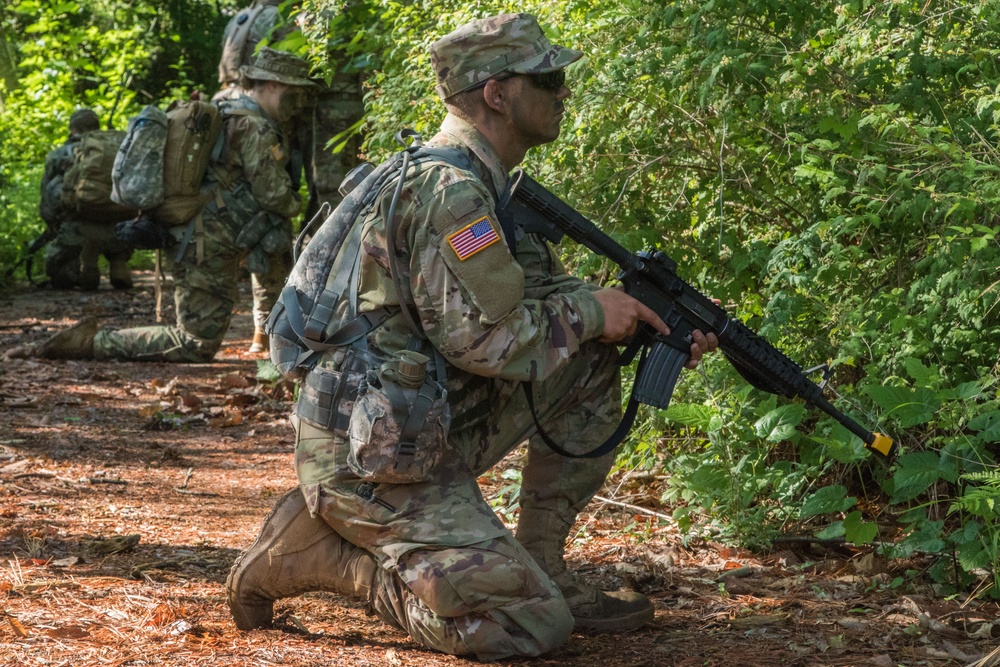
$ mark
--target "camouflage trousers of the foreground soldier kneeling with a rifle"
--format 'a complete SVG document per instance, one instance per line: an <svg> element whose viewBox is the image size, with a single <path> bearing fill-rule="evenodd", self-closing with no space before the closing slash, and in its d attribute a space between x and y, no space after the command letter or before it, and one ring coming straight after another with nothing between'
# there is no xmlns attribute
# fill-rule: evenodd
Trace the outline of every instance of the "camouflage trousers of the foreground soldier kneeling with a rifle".
<svg viewBox="0 0 1000 667"><path fill-rule="evenodd" d="M539 422L564 448L591 451L617 425L615 357L612 347L588 343L562 372L532 385ZM332 452L338 470L335 480L321 484L300 479L310 510L393 575L376 582L375 610L431 648L485 660L559 646L573 617L559 588L483 499L477 477L529 440L521 503L571 525L614 459L559 456L539 439L520 385L492 386L492 409L450 434L454 455L434 479L379 484L374 495L344 472L342 437L293 419L300 472L317 452Z"/></svg>

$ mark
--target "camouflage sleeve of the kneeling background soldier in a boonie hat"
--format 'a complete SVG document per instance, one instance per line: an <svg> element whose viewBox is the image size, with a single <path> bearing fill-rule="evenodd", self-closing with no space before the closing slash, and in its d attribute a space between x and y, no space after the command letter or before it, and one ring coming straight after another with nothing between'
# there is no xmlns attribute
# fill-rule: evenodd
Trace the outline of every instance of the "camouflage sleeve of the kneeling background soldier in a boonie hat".
<svg viewBox="0 0 1000 667"><path fill-rule="evenodd" d="M238 150L253 198L265 211L285 218L298 215L302 198L285 169L288 150L281 137L262 118L243 116L234 122L245 124L240 128L243 131Z"/></svg>

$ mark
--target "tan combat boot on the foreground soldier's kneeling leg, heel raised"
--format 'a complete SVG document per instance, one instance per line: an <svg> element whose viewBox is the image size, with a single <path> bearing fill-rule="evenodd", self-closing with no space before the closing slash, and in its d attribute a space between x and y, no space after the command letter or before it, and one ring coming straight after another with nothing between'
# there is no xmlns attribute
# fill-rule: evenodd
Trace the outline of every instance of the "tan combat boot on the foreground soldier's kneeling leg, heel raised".
<svg viewBox="0 0 1000 667"><path fill-rule="evenodd" d="M274 601L309 591L371 597L375 559L306 509L298 488L283 495L254 543L233 563L226 599L236 627L271 626Z"/></svg>

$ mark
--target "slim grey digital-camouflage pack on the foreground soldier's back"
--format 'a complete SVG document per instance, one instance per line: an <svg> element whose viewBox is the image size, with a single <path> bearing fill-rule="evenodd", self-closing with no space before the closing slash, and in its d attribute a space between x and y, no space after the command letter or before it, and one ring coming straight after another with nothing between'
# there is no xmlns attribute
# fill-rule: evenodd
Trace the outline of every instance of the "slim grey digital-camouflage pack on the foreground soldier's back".
<svg viewBox="0 0 1000 667"><path fill-rule="evenodd" d="M270 336L271 361L286 378L303 379L320 353L351 345L392 314L385 309L361 315L355 312L349 291L357 270L361 234L350 232L363 224L382 199L380 195L398 182L404 166L437 161L471 168L469 159L457 149L421 146L415 133L403 136L415 136L417 141L377 168L370 164L355 167L344 179L350 183L352 176L368 172L353 189L342 188L343 200L296 258L271 309L264 329ZM402 142L398 135L397 139ZM308 231L304 229L302 236ZM345 248L348 239L359 247Z"/></svg>

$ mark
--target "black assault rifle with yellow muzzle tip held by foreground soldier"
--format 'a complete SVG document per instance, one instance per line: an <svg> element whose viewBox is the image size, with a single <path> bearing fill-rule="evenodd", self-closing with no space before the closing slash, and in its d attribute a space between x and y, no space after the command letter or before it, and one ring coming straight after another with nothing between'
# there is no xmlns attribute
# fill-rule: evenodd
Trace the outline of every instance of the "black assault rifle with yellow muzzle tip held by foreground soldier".
<svg viewBox="0 0 1000 667"><path fill-rule="evenodd" d="M647 349L636 370L634 400L660 409L669 405L677 377L691 357L692 332L700 329L718 337L726 359L752 386L769 394L801 398L861 438L870 451L886 460L895 455L890 437L872 433L835 408L823 396L823 387L812 382L801 366L678 276L677 262L664 253L626 250L523 171L514 175L504 199L500 206L504 217L524 232L540 233L553 243L569 236L617 264L625 292L653 309L670 327L668 336L643 327L639 343Z"/></svg>

